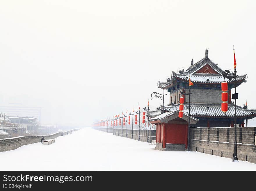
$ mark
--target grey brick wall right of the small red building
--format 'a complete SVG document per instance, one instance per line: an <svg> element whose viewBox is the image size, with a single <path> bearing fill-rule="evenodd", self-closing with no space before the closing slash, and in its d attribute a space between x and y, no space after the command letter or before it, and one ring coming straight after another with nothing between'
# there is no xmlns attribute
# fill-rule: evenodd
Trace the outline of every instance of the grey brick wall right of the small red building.
<svg viewBox="0 0 256 191"><path fill-rule="evenodd" d="M237 157L256 163L256 127L237 127ZM233 158L234 127L191 128L191 151Z"/></svg>

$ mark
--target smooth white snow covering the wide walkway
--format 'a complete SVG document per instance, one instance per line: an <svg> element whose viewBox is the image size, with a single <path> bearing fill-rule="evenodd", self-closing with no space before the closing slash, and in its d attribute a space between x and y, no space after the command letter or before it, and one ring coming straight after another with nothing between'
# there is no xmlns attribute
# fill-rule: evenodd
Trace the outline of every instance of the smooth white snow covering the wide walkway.
<svg viewBox="0 0 256 191"><path fill-rule="evenodd" d="M154 145L83 128L51 145L0 153L1 170L256 170L256 164L199 152L158 151Z"/></svg>

